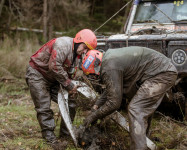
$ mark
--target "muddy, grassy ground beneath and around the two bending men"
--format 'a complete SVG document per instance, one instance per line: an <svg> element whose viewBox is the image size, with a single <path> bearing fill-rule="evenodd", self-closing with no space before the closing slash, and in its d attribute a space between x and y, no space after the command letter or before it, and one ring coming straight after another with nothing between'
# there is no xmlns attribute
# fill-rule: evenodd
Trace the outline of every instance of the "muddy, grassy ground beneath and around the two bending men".
<svg viewBox="0 0 187 150"><path fill-rule="evenodd" d="M55 133L58 136L60 123L58 105L52 103L52 109L57 124ZM121 111L121 113L126 116L125 111ZM81 109L77 110L75 126L79 127L84 114L85 112ZM95 126L92 133L95 133L97 138L90 134L90 139L95 139L95 148L102 150L129 149L129 134L123 128L111 120L98 121ZM186 122L156 113L152 121L149 138L158 146L159 150L185 150L187 149ZM65 137L63 140L68 141L66 150L76 149L70 137ZM88 148L89 146L85 144L83 148L78 149ZM0 149L52 149L41 138L34 105L24 80L0 81Z"/></svg>

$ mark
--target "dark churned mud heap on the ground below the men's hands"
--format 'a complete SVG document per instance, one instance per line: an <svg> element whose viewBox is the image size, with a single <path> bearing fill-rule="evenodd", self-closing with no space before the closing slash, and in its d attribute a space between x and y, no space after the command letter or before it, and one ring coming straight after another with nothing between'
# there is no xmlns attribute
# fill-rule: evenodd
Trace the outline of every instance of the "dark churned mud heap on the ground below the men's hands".
<svg viewBox="0 0 187 150"><path fill-rule="evenodd" d="M106 120L85 130L79 138L79 145L84 150L127 150L129 140L127 132Z"/></svg>

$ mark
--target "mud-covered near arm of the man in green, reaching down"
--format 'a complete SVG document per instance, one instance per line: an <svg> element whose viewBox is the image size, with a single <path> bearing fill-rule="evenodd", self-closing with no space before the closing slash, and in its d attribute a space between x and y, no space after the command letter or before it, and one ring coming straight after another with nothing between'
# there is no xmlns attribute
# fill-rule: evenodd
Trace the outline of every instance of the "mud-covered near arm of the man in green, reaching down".
<svg viewBox="0 0 187 150"><path fill-rule="evenodd" d="M106 85L106 102L85 119L84 125L86 127L97 119L104 118L113 113L121 105L123 94L123 72L120 70L106 70L102 75L102 80Z"/></svg>

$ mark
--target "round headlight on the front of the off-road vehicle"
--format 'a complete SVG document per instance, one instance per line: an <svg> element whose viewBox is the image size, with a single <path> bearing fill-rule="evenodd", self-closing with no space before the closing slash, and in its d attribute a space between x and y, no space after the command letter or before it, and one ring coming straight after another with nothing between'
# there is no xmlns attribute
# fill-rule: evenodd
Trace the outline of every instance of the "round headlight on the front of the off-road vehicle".
<svg viewBox="0 0 187 150"><path fill-rule="evenodd" d="M186 53L182 49L177 49L172 54L172 61L176 65L183 65L186 61Z"/></svg>

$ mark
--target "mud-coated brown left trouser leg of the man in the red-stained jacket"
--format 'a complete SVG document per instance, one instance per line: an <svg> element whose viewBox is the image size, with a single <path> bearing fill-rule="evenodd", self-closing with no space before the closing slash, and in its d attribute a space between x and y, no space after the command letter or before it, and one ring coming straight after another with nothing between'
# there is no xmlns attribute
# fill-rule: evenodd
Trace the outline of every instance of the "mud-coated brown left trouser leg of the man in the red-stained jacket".
<svg viewBox="0 0 187 150"><path fill-rule="evenodd" d="M52 144L53 147L54 145L57 145L58 141L54 134L54 113L50 106L51 100L57 103L57 93L59 90L58 83L55 85L51 84L49 81L43 78L41 73L39 73L36 69L33 69L30 66L27 69L26 82L29 86L30 94L35 105L37 119L41 127L42 137L48 143ZM73 112L73 115L71 116L75 116L76 105L74 104L73 108L71 108L71 103L69 104L70 112Z"/></svg>

